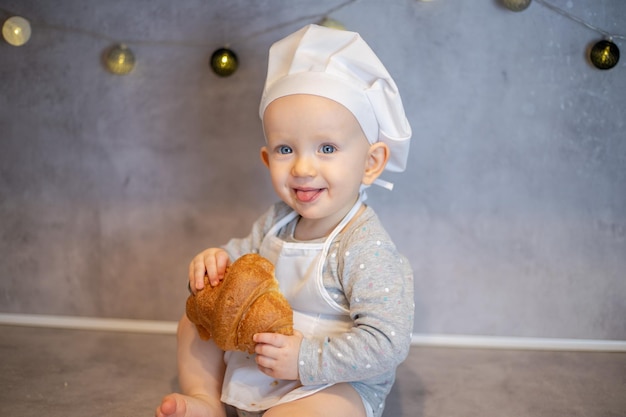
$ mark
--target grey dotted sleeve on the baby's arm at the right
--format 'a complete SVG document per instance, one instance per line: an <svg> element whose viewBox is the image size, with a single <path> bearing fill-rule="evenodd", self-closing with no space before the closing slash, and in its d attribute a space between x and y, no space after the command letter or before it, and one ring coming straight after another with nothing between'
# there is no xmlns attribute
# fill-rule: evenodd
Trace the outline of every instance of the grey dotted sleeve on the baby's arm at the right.
<svg viewBox="0 0 626 417"><path fill-rule="evenodd" d="M303 340L304 385L362 381L392 372L408 354L414 314L408 261L377 222L359 225L343 239L334 256L354 327L332 338Z"/></svg>

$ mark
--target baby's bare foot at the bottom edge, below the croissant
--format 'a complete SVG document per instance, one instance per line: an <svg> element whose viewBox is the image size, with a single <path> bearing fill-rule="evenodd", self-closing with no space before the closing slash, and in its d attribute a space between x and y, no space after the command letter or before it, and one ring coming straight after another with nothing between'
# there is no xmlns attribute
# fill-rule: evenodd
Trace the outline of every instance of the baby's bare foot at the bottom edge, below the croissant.
<svg viewBox="0 0 626 417"><path fill-rule="evenodd" d="M226 417L226 410L221 402L215 403L207 397L170 394L163 398L154 415L156 417Z"/></svg>

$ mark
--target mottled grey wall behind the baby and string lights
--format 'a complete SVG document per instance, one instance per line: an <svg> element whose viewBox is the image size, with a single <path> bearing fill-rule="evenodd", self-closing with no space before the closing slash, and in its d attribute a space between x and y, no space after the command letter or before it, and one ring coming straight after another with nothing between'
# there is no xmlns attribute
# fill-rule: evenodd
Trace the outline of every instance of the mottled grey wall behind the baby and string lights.
<svg viewBox="0 0 626 417"><path fill-rule="evenodd" d="M623 0L551 1L626 32ZM0 44L0 312L176 320L190 258L275 200L266 52L316 19L250 35L339 3L0 0L34 31ZM369 199L415 269L415 330L626 339L626 59L594 69L600 36L538 3L332 17L387 64L415 132L395 190ZM107 73L109 40L58 26L129 42L135 71ZM241 66L222 79L207 60L227 42Z"/></svg>

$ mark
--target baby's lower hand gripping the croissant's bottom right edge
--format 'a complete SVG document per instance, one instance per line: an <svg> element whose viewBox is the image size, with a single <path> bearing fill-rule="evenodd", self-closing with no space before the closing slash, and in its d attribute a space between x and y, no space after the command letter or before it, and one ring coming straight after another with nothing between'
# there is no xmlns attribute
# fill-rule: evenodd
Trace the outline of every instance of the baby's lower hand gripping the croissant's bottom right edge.
<svg viewBox="0 0 626 417"><path fill-rule="evenodd" d="M278 333L255 334L254 341L257 345L254 351L259 370L272 378L297 380L302 339L302 333L297 330L294 330L293 336Z"/></svg>

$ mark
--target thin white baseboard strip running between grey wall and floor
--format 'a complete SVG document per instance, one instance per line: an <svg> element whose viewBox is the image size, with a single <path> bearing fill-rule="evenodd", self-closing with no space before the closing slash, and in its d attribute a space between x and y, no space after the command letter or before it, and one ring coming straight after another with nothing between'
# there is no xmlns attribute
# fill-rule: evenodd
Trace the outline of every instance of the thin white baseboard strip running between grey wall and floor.
<svg viewBox="0 0 626 417"><path fill-rule="evenodd" d="M0 325L175 334L173 321L0 313ZM626 352L626 340L414 334L415 347Z"/></svg>

